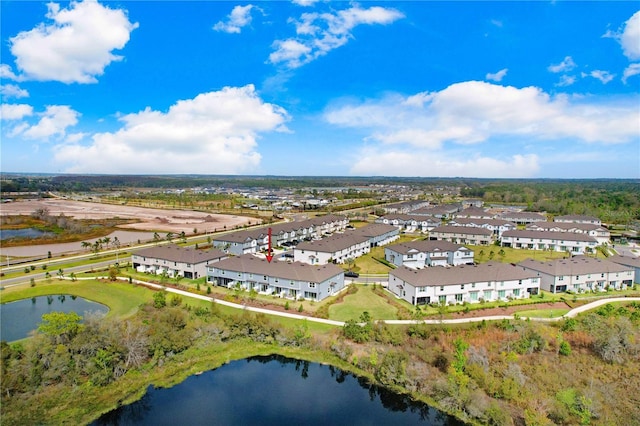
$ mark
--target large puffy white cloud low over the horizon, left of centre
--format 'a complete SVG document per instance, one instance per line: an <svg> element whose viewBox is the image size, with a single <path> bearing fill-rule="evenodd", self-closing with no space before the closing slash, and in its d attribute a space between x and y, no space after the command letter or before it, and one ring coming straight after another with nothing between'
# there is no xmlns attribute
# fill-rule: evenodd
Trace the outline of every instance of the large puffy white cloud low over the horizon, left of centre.
<svg viewBox="0 0 640 426"><path fill-rule="evenodd" d="M287 119L252 85L226 87L178 101L167 112L125 115L121 129L96 134L89 145L59 145L55 159L79 173L251 173L261 160L258 135L286 131Z"/></svg>

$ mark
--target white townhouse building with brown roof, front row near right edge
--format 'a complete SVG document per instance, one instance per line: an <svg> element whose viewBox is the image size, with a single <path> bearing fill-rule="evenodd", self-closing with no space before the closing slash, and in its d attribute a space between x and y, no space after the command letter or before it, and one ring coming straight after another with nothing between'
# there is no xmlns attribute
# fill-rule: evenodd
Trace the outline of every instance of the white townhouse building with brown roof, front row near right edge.
<svg viewBox="0 0 640 426"><path fill-rule="evenodd" d="M518 266L535 272L541 278L540 287L551 293L620 290L635 280L631 266L585 256L545 262L527 259Z"/></svg>

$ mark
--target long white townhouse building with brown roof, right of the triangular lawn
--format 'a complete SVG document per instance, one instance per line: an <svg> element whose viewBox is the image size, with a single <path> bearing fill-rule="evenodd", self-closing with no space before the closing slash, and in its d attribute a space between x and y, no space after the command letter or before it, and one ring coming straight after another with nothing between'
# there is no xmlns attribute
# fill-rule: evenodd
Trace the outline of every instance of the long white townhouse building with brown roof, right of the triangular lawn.
<svg viewBox="0 0 640 426"><path fill-rule="evenodd" d="M388 289L412 305L478 303L538 294L540 278L533 272L500 262L450 268L400 266L389 272Z"/></svg>

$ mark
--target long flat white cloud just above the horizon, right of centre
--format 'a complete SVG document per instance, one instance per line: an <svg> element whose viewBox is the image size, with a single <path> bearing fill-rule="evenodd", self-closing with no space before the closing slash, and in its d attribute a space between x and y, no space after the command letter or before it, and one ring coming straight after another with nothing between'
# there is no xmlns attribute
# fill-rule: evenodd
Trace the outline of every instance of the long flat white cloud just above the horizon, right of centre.
<svg viewBox="0 0 640 426"><path fill-rule="evenodd" d="M416 150L364 149L350 173L357 176L431 176L526 178L540 170L533 154L513 155L504 159L486 156L445 155Z"/></svg>

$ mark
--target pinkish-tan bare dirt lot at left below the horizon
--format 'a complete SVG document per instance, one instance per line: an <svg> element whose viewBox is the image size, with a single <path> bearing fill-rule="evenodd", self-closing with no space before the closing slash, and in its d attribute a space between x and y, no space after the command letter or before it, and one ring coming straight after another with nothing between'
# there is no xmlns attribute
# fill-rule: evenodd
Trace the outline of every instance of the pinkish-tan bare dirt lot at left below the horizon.
<svg viewBox="0 0 640 426"><path fill-rule="evenodd" d="M123 225L123 229L140 231L163 231L187 235L216 232L242 226L249 221L255 224L255 218L203 213L190 210L162 210L144 207L131 207L112 204L87 203L62 199L14 201L0 205L1 215L29 215L39 208L49 209L53 216L64 214L76 219L108 219L120 217L136 219L137 223Z"/></svg>

